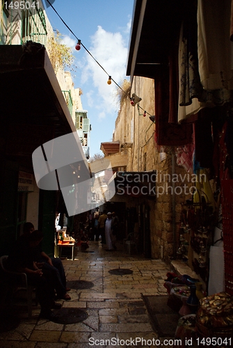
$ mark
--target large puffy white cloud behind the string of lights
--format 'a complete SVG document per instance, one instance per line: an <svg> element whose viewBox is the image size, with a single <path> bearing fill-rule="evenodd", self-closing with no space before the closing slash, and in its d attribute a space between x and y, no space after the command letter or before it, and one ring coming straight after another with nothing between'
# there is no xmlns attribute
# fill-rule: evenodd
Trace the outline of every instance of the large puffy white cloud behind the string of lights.
<svg viewBox="0 0 233 348"><path fill-rule="evenodd" d="M97 109L104 109L105 113L116 111L115 90L117 86L107 84L109 75L117 83L121 84L126 74L127 47L121 33L110 33L105 31L102 26L98 26L97 31L91 37L90 54L86 54L86 66L82 70L81 80L83 83L88 79L93 80L93 85L97 88L98 103ZM103 70L99 65L102 66ZM103 119L104 112L99 113L99 119Z"/></svg>

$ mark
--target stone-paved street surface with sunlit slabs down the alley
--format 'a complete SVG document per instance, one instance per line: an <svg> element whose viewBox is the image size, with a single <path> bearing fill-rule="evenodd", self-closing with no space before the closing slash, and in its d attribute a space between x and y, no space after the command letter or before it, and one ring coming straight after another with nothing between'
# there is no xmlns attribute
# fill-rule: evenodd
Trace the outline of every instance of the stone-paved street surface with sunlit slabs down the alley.
<svg viewBox="0 0 233 348"><path fill-rule="evenodd" d="M138 347L159 347L147 344L152 338L159 338L152 330L142 294L166 294L163 283L170 265L129 255L122 251L122 244L117 245L118 251L109 252L100 242L90 242L87 253L78 251L74 261L63 260L67 280L94 283L90 289L71 290L72 300L61 301L65 308L86 310L87 319L77 324L56 324L38 319L40 307L34 307L32 319L27 319L25 313L15 331L0 333L0 347L133 347L124 342L135 338L145 340L143 345L138 342ZM119 267L131 269L133 274L109 273ZM120 345L116 345L113 338L122 340L118 341ZM111 340L111 344L100 340Z"/></svg>

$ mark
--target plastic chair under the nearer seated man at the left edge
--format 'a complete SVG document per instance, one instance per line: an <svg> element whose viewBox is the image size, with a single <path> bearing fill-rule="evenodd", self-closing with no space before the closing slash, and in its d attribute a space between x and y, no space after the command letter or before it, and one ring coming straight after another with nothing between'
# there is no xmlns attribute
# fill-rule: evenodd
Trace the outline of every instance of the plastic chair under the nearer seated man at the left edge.
<svg viewBox="0 0 233 348"><path fill-rule="evenodd" d="M17 290L26 290L26 300L28 307L28 315L29 318L32 316L32 304L33 304L33 290L35 287L33 285L28 284L28 279L26 273L8 271L5 267L5 262L8 258L8 255L3 255L0 258L1 269L4 274L6 274L7 278L12 279L14 281L14 285L17 287ZM36 301L37 304L37 301Z"/></svg>

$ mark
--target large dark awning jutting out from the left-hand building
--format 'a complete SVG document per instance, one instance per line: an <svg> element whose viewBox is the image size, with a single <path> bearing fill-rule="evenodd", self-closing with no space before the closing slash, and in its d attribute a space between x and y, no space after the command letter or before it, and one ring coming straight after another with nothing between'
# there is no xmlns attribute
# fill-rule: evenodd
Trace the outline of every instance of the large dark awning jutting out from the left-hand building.
<svg viewBox="0 0 233 348"><path fill-rule="evenodd" d="M0 155L31 161L35 148L75 132L46 49L0 46Z"/></svg>

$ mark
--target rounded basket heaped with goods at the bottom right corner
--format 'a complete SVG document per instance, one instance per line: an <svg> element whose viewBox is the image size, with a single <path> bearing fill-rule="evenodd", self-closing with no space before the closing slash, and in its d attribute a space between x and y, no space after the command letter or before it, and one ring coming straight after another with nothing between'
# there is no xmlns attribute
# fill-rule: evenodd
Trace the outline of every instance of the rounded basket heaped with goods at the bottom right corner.
<svg viewBox="0 0 233 348"><path fill-rule="evenodd" d="M196 328L202 337L232 337L233 297L226 292L220 292L201 299L196 315Z"/></svg>

